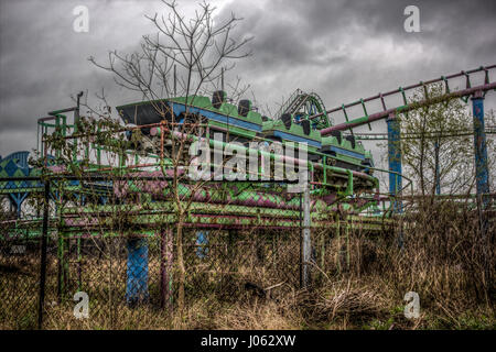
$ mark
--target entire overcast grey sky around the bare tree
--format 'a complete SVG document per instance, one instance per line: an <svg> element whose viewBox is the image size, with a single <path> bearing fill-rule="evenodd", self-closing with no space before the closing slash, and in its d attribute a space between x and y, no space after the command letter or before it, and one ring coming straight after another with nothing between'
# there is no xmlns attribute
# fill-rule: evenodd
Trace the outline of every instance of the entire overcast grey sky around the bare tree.
<svg viewBox="0 0 496 352"><path fill-rule="evenodd" d="M186 13L197 1L179 1ZM496 64L496 1L211 1L219 18L242 16L254 55L236 72L257 100L274 106L294 89L333 108L420 80ZM89 10L89 32L73 30L73 9ZM403 10L420 9L420 33L407 33ZM32 150L36 119L71 107L79 90L106 89L114 106L132 101L111 76L88 63L109 50L131 51L155 31L144 14L155 0L0 1L0 155ZM233 77L227 77L229 79ZM494 107L489 92L486 106ZM276 109L274 109L276 110ZM342 122L337 119L336 122ZM385 130L385 122L374 125ZM373 145L367 145L374 148Z"/></svg>

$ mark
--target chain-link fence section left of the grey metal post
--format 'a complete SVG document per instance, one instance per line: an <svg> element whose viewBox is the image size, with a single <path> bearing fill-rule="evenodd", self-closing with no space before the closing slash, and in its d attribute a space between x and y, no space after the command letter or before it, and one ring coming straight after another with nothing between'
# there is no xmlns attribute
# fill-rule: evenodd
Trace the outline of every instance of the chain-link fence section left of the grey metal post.
<svg viewBox="0 0 496 352"><path fill-rule="evenodd" d="M32 178L19 189L22 209L4 191L1 329L168 327L181 299L277 299L299 288L300 194L274 183L165 188L136 176Z"/></svg>

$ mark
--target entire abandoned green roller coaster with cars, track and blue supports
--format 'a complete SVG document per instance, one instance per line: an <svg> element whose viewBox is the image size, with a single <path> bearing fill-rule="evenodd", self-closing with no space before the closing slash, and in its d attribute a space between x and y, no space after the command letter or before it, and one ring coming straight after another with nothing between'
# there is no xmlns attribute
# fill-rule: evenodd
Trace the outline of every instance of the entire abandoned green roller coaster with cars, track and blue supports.
<svg viewBox="0 0 496 352"><path fill-rule="evenodd" d="M191 200L191 210L184 226L197 233L202 234L211 229L284 230L298 228L303 221L303 255L310 257L311 229L338 227L336 215L341 215L341 219L343 215L346 216L347 221L342 226L359 226L364 231L370 232L382 229L384 221L391 216L400 216L402 200L397 196L401 196L411 182L407 185L402 183L406 177L401 174L401 150L398 145L401 133L397 117L408 114L413 109L453 98L465 101L472 98L477 194L489 193L483 101L487 91L496 89L494 74L489 75L495 68L496 65L492 65L442 76L330 110L316 94L296 90L272 117L262 116L250 100L242 99L238 105L233 103L224 90L215 91L212 97L172 97L119 106L117 111L126 127L116 133L116 139L123 135L123 140L127 140L127 147L119 152L127 157L120 157L119 165L106 164L103 154L110 150L109 144L112 141L86 144L86 154L96 156L85 168L85 175L77 177L69 173L69 165L57 163L60 151L48 150L45 139L54 132L61 133L74 147L71 163L79 162L79 103L74 108L52 111L47 117L37 120L36 147L41 157L46 161L47 168L42 170L32 167L28 162L29 152L0 157L0 193L8 199L12 209L12 217L0 223L6 230L0 234L1 240L19 235L37 238L51 233L62 234L61 238L116 235L111 228L101 232L105 224L101 218L105 218L110 207L109 199L120 198L120 205L128 207L126 211L136 215L131 220L132 227L121 230L123 233L118 233L129 235L127 298L134 299L148 289L148 271L142 267L147 266L145 238L157 235L155 229L152 228L155 219L152 215L161 213L163 223L170 228L176 222L172 185L174 175L177 174L174 173L174 163L171 161L174 139L185 139L187 145L202 140L212 147L216 144L224 146L229 142L238 142L245 146L247 155L254 153L257 157L271 160L272 164L278 157L285 156L277 156L273 151L252 150L250 142L279 142L283 146L289 143L304 143L306 160L299 160L298 155L294 157L299 166L308 169L309 180L302 193L279 191L281 187L287 186L285 179L251 180L248 174L246 179L241 180L214 179L197 189L196 182L181 177L176 187L181 188L183 200ZM473 75L483 75L484 81L474 84ZM450 80L460 78L465 81L464 88L450 86ZM425 96L422 101L407 99L407 94L414 89L423 87L427 92L427 87L431 84L443 85L444 95L432 98ZM387 100L391 97L402 103L388 107ZM369 113L370 103L380 106L380 109ZM67 113L74 114L72 123ZM344 117L345 121L334 124L333 119L337 114ZM370 123L378 120L386 120L388 127L387 170L375 167L371 153L364 148L360 135L354 133L355 128L365 124L370 127ZM181 125L192 121L201 121L202 129L195 130L196 133L191 135L182 134ZM133 138L136 133L140 134L139 141ZM214 140L214 134L220 134L222 140ZM260 165L256 173L261 173ZM377 173L389 174L389 191L380 191ZM110 174L118 176L108 177ZM50 182L44 182L47 178L52 178L52 184L55 182L60 183L58 186L64 186L51 189ZM52 199L71 198L74 200L74 207L60 209L57 221L51 220L44 227L33 230L26 223L41 222L42 217L28 216L22 206L31 193L43 190ZM147 199L150 206L141 207L139 199ZM229 207L224 207L225 205ZM116 204L111 207L116 207ZM141 229L138 234L134 226ZM204 235L202 239L206 241Z"/></svg>

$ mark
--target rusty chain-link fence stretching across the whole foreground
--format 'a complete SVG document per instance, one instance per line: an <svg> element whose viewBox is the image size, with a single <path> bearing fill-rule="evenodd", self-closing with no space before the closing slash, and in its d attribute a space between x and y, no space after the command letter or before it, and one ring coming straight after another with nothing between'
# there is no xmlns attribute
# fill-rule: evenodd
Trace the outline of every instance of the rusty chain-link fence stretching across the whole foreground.
<svg viewBox="0 0 496 352"><path fill-rule="evenodd" d="M216 310L284 305L295 296L311 304L343 277L380 273L398 285L409 283L405 277L424 285L408 274L412 260L425 273L446 262L457 271L450 279L485 297L494 256L492 237L481 237L477 226L494 232L492 210L461 212L461 202L439 202L385 220L346 213L343 202L325 208L313 193L303 256L305 197L285 186L173 187L171 179L132 174L0 178L0 329L211 329L211 317L223 327ZM454 222L450 215L459 212L465 218ZM460 237L446 241L431 217ZM418 253L424 260L414 262ZM470 253L478 254L466 262Z"/></svg>

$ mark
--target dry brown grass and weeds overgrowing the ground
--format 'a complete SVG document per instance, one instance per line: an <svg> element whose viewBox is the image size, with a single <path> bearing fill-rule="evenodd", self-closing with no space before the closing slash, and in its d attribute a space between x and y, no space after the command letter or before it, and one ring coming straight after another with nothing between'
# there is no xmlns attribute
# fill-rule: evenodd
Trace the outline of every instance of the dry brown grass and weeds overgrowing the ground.
<svg viewBox="0 0 496 352"><path fill-rule="evenodd" d="M277 256L272 253L265 262L249 254L242 265L225 258L223 263L229 265L207 265L205 272L196 265L183 314L160 308L157 299L137 308L126 306L125 262L115 261L119 268L112 305L108 305L106 296L98 296L91 300L90 319L77 320L73 301L48 304L45 328L496 329L495 297L490 296L494 282L487 278L487 274L494 277L496 267L494 222L488 224L488 238L483 239L474 211L453 204L434 204L424 206L423 211L407 211L403 223L402 249L397 244L398 229L375 239L359 231L351 233L349 265L338 254L345 243L343 237L338 241L330 231L314 232L315 240L321 234L326 239L324 257L320 257L320 251L315 257L315 263L323 262L324 266L313 268L314 284L305 290L295 288L298 242L281 243ZM267 248L266 253L270 253ZM87 263L93 264L97 278L93 283L108 286L105 262L100 270L97 262ZM158 273L158 262L150 263L150 277ZM17 276L15 284L20 285L21 279ZM277 287L270 295L260 296L247 290L245 282L261 288ZM421 306L420 318L412 320L403 316L403 296L410 290L419 294ZM3 304L0 308L0 329L34 328L35 310L19 317L14 305Z"/></svg>

